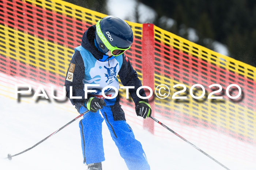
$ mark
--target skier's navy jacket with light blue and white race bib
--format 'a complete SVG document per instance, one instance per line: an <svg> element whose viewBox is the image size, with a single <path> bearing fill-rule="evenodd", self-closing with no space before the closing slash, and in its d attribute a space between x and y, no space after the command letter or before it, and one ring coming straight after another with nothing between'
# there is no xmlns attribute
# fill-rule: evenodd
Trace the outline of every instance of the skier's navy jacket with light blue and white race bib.
<svg viewBox="0 0 256 170"><path fill-rule="evenodd" d="M135 86L134 89L129 89L129 93L135 103L142 100L137 94L136 90L142 86L137 72L133 70L128 58L122 54L110 58L109 62L105 62L107 56L97 49L94 45L95 25L89 27L84 32L82 37L81 46L75 48L75 52L72 55L71 62L66 75L65 87L67 91L67 97L70 96L70 86L72 86L72 96L82 96L82 99L70 99L71 103L80 109L81 106L85 106L87 102L84 95L84 84L100 84L102 86L114 86L119 88L117 75L119 76L123 86ZM118 74L116 74L118 73ZM96 92L90 92L87 94L87 99L90 97L101 98L101 90L99 88L91 87L89 90L96 90ZM105 94L109 93L109 96L113 96L111 89L108 89ZM140 90L141 96L146 96L144 90ZM119 106L119 94L114 99L104 99L109 106ZM114 106L112 106L114 107Z"/></svg>

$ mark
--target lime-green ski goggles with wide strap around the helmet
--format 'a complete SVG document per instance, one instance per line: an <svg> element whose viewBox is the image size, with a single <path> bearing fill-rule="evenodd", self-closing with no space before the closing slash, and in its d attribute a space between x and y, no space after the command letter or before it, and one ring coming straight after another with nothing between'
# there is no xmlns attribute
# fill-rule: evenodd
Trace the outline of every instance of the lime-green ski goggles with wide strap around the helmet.
<svg viewBox="0 0 256 170"><path fill-rule="evenodd" d="M113 56L118 56L120 54L123 54L126 50L128 50L131 46L129 46L128 48L118 48L118 47L114 47L111 46L111 44L109 43L109 41L106 39L106 37L104 36L104 34L101 31L101 28L99 26L99 23L102 19L100 19L97 24L96 24L96 31L97 34L99 36L99 38L101 39L101 41L104 43L104 45L111 51L111 54Z"/></svg>

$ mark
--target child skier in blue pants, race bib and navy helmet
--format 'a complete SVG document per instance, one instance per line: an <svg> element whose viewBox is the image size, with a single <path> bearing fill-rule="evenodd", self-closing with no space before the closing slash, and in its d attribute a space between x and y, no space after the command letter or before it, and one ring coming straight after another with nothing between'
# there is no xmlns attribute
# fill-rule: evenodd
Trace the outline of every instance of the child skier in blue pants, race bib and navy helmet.
<svg viewBox="0 0 256 170"><path fill-rule="evenodd" d="M135 102L136 114L143 118L151 115L148 100L136 95L136 90L142 84L124 54L131 47L132 41L132 29L127 22L115 16L106 16L84 32L81 46L76 47L72 55L65 86L67 97L78 112L90 110L79 122L84 163L89 170L102 170L101 162L105 160L102 141L104 119L128 169L150 169L142 145L135 139L131 127L125 121L119 94L113 99L102 96L103 87L113 86L119 89L119 75L124 86L134 86L129 92ZM84 88L94 92L85 94ZM105 95L114 96L115 91L108 88ZM143 89L140 90L140 95L146 96Z"/></svg>

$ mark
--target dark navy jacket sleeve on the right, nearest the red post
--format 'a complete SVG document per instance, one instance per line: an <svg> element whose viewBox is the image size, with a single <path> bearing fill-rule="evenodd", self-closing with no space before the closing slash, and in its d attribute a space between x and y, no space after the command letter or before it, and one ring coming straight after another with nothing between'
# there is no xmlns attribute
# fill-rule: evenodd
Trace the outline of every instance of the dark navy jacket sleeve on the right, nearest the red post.
<svg viewBox="0 0 256 170"><path fill-rule="evenodd" d="M133 102L136 104L137 102L144 100L146 102L148 102L147 99L140 99L137 94L136 91L137 89L142 86L140 79L138 78L138 74L137 72L132 68L132 65L130 63L130 61L125 59L126 56L123 54L123 64L121 66L121 69L118 73L121 83L123 84L123 86L134 86L135 88L133 89L129 89L129 93L133 99ZM145 91L143 89L141 89L139 91L139 94L143 97L146 96Z"/></svg>

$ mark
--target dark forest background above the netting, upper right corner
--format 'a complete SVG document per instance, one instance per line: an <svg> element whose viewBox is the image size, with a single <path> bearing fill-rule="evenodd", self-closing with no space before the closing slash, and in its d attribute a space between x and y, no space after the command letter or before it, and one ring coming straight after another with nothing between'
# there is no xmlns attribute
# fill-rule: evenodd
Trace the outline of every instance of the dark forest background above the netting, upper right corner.
<svg viewBox="0 0 256 170"><path fill-rule="evenodd" d="M181 29L194 28L195 43L214 50L212 42L226 44L231 58L256 66L255 0L139 0L155 9L154 24L187 39ZM174 19L172 28L160 24L161 16ZM206 41L208 39L208 41ZM210 40L210 41L209 41Z"/></svg>

